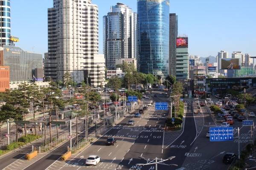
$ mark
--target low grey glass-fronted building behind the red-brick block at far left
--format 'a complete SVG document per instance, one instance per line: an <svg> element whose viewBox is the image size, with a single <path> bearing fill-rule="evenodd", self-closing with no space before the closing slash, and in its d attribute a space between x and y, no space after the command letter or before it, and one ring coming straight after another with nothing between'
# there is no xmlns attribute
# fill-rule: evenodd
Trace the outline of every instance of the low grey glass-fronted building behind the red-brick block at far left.
<svg viewBox="0 0 256 170"><path fill-rule="evenodd" d="M10 84L30 83L34 79L35 69L43 68L43 55L3 45L0 48L0 66L10 68Z"/></svg>

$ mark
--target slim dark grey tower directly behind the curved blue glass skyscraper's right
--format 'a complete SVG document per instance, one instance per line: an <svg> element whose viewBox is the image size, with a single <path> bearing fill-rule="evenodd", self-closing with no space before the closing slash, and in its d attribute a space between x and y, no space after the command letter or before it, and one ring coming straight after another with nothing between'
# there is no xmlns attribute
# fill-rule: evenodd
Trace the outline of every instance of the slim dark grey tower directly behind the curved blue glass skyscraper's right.
<svg viewBox="0 0 256 170"><path fill-rule="evenodd" d="M176 38L178 35L178 16L169 14L169 75L176 76Z"/></svg>

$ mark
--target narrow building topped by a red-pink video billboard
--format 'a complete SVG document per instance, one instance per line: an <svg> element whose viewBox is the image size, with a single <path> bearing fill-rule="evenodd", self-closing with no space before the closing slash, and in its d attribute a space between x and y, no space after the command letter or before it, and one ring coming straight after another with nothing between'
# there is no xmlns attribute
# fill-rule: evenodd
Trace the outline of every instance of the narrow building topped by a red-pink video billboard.
<svg viewBox="0 0 256 170"><path fill-rule="evenodd" d="M189 79L188 37L178 36L176 41L176 79Z"/></svg>

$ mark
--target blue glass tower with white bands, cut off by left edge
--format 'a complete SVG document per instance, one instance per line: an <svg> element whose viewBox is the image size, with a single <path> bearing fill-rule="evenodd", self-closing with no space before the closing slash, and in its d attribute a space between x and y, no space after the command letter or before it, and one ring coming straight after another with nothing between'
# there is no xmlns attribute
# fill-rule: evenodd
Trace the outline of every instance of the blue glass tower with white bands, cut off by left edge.
<svg viewBox="0 0 256 170"><path fill-rule="evenodd" d="M0 47L10 45L11 35L11 14L10 0L0 0Z"/></svg>

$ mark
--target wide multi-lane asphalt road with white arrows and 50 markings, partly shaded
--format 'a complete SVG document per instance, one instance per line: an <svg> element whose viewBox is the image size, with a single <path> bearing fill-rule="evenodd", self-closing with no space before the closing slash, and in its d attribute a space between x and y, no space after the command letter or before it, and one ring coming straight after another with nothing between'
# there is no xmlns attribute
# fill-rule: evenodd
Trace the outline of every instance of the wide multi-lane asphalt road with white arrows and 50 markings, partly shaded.
<svg viewBox="0 0 256 170"><path fill-rule="evenodd" d="M159 92L156 92L159 93ZM164 94L149 95L154 102L169 102ZM213 121L209 116L207 107L202 107L201 114L195 114L194 102L187 100L183 118L183 128L179 131L166 132L163 130L169 111L154 109L154 103L148 106L141 117L134 117L134 113L146 106L149 99L142 99L140 107L130 113L122 121L106 131L99 139L91 142L78 153L73 154L67 161L61 161L60 156L66 150L58 147L50 153L41 153L36 158L26 161L19 156L13 155L8 162L0 159L0 169L5 170L80 170L93 168L95 170L155 170L155 165L137 166L136 164L149 163L148 159L167 159L175 156L172 160L164 161L166 164L177 164L169 167L158 164L158 170L225 170L229 165L222 163L224 153L238 153L238 140L224 142L210 142L206 137L209 127L220 124ZM250 118L254 119L254 118ZM135 125L126 125L128 120L134 120ZM243 148L250 140L250 127L242 127L241 122L235 121L233 127L240 127L240 148ZM235 131L234 137L237 136ZM106 146L108 137L117 139L115 145ZM61 149L60 149L61 148ZM24 153L22 153L24 155ZM85 160L90 155L101 157L96 166L86 166ZM141 160L137 156L143 156ZM9 166L7 167L7 164ZM12 166L10 166L12 165ZM17 165L17 166L16 166ZM20 165L20 166L19 166Z"/></svg>

